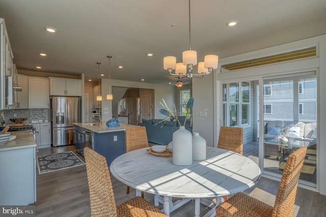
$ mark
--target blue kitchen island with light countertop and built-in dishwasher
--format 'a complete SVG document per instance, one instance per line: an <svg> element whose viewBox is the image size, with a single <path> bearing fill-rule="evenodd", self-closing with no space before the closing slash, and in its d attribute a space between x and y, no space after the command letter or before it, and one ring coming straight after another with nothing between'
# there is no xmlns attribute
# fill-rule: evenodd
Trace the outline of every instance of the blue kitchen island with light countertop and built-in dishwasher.
<svg viewBox="0 0 326 217"><path fill-rule="evenodd" d="M135 125L121 124L120 127L108 128L105 122L73 123L74 147L84 153L84 147L90 147L106 158L107 165L125 153L125 130L138 128Z"/></svg>

